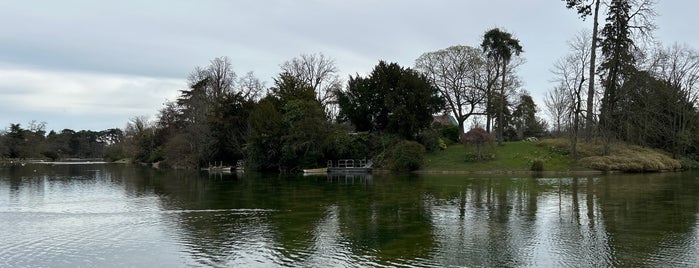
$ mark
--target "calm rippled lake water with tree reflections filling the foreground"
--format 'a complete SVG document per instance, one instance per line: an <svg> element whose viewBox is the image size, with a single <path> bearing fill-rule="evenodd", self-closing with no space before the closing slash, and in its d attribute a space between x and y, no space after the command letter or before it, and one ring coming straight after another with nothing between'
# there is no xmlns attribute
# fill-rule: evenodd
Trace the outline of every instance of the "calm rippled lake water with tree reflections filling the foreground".
<svg viewBox="0 0 699 268"><path fill-rule="evenodd" d="M0 165L0 267L697 267L699 173Z"/></svg>

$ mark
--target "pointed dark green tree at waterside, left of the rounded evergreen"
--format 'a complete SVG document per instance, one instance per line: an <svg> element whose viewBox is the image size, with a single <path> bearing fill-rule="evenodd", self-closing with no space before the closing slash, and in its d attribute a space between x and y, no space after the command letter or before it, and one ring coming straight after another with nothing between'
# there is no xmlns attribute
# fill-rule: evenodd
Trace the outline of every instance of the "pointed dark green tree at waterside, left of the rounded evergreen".
<svg viewBox="0 0 699 268"><path fill-rule="evenodd" d="M272 94L249 117L248 167L296 171L324 166L327 156L337 153L330 149L337 132L313 89L287 73L275 82Z"/></svg>

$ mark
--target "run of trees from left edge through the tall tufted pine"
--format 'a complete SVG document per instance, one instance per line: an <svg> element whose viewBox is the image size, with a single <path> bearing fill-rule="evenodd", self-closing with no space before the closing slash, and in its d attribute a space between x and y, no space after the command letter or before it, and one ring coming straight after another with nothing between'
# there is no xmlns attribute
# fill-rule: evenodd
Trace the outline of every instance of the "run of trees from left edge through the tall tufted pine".
<svg viewBox="0 0 699 268"><path fill-rule="evenodd" d="M471 116L484 117L488 132L501 129L500 140L543 135L545 124L516 75L524 62L518 41L500 29L484 39L489 41L481 48L425 53L415 68L379 61L344 86L334 60L323 54L284 62L270 87L252 72L239 77L227 57L215 58L195 67L187 88L153 120L134 117L123 131L77 133L12 125L0 152L129 158L172 168L245 163L255 170L297 171L353 158L415 169L424 152L460 142ZM457 126L434 123L440 114L454 115Z"/></svg>

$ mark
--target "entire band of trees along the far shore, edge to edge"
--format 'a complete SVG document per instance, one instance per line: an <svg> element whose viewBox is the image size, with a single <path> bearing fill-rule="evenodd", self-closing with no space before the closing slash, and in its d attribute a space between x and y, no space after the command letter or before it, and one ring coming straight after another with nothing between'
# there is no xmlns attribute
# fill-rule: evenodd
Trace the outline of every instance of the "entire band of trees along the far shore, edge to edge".
<svg viewBox="0 0 699 268"><path fill-rule="evenodd" d="M623 142L699 160L697 50L653 39L651 0L562 2L592 31L575 35L569 54L552 67L557 85L544 101L550 126L536 116L517 74L524 47L495 28L479 46L426 52L412 67L379 61L346 83L323 54L284 62L270 87L252 72L238 76L227 57L215 58L192 71L188 88L155 120L132 118L123 131L48 135L13 124L0 136L0 154L101 154L172 168L244 162L248 169L292 172L352 158L412 170L426 152L460 141L565 137L573 157L578 143L596 140L604 154Z"/></svg>

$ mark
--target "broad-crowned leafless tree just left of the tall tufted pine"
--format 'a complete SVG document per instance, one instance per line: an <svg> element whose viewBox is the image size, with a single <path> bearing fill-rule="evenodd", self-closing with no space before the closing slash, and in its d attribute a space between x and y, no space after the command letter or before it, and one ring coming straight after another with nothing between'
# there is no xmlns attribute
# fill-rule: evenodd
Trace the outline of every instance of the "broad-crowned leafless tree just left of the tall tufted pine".
<svg viewBox="0 0 699 268"><path fill-rule="evenodd" d="M479 85L485 67L481 51L469 46L427 52L415 61L415 68L439 89L447 109L456 117L461 135L469 117L484 113L479 108L486 100L486 92Z"/></svg>

